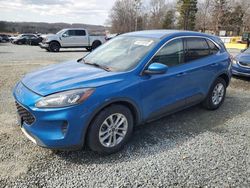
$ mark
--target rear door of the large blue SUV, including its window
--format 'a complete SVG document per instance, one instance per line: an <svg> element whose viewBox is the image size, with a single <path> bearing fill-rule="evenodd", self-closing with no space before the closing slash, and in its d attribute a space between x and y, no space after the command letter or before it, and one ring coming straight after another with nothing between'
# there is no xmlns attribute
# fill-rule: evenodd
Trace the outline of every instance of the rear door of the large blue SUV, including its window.
<svg viewBox="0 0 250 188"><path fill-rule="evenodd" d="M184 39L185 69L190 80L187 103L195 103L206 97L210 84L218 72L219 48L206 38L188 37Z"/></svg>

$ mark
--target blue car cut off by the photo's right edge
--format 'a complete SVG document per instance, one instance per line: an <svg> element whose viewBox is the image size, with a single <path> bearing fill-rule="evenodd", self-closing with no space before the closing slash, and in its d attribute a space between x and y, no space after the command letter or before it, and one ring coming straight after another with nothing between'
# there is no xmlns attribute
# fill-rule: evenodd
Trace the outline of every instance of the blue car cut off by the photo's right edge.
<svg viewBox="0 0 250 188"><path fill-rule="evenodd" d="M233 74L250 77L250 48L242 50L233 59Z"/></svg>

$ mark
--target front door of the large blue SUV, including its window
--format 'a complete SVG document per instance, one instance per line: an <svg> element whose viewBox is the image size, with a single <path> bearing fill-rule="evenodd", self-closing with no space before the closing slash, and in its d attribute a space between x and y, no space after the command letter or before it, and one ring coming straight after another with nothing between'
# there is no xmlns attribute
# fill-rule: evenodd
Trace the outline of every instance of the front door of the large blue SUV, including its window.
<svg viewBox="0 0 250 188"><path fill-rule="evenodd" d="M151 63L162 63L169 68L164 74L144 74L141 77L144 119L153 119L183 108L186 98L193 91L191 75L184 63L182 39L167 43Z"/></svg>

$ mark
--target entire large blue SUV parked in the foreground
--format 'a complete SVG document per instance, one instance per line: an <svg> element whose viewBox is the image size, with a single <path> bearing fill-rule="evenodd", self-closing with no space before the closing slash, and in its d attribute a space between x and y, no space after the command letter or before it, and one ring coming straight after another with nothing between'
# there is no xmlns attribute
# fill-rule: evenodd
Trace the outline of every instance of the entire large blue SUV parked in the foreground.
<svg viewBox="0 0 250 188"><path fill-rule="evenodd" d="M198 32L120 35L78 61L27 74L13 95L21 130L37 145L120 150L134 126L200 104L219 108L231 78L221 40Z"/></svg>

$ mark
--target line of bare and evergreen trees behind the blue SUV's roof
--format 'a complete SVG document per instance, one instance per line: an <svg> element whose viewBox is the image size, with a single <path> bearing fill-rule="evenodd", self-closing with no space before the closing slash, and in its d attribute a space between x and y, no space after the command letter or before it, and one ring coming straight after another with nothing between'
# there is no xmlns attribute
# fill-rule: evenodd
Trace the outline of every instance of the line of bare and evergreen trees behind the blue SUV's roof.
<svg viewBox="0 0 250 188"><path fill-rule="evenodd" d="M250 31L250 1L116 0L107 23L113 33L182 29L241 35Z"/></svg>

